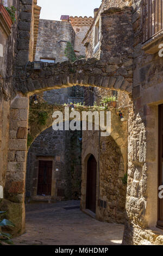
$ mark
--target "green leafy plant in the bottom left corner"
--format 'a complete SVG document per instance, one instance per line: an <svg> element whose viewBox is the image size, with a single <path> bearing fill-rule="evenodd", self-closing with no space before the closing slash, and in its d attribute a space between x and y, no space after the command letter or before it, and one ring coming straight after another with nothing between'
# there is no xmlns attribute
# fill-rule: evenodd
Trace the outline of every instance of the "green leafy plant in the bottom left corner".
<svg viewBox="0 0 163 256"><path fill-rule="evenodd" d="M0 201L0 203L1 202L2 200ZM5 214L5 211L0 211L0 215L3 216L3 214ZM15 225L9 220L6 220L5 218L3 218L2 220L0 218L0 227L15 227ZM3 243L7 243L8 245L13 245L11 238L12 236L9 233L0 231L0 245L2 245Z"/></svg>

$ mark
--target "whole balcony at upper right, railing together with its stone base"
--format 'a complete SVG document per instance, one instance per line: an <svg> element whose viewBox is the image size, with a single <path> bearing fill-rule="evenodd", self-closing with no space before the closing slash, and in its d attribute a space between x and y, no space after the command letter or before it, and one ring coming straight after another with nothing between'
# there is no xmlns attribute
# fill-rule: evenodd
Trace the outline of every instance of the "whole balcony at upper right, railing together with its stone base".
<svg viewBox="0 0 163 256"><path fill-rule="evenodd" d="M143 50L154 54L163 39L163 0L143 0Z"/></svg>

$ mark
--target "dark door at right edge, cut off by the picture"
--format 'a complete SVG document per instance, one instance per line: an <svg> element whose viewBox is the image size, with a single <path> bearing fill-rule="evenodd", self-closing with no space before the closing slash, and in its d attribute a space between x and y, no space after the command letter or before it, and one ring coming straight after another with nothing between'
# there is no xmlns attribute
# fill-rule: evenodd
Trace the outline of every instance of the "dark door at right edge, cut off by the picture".
<svg viewBox="0 0 163 256"><path fill-rule="evenodd" d="M159 105L159 171L158 186L163 185L163 104ZM158 197L158 222L157 225L163 229L163 199Z"/></svg>

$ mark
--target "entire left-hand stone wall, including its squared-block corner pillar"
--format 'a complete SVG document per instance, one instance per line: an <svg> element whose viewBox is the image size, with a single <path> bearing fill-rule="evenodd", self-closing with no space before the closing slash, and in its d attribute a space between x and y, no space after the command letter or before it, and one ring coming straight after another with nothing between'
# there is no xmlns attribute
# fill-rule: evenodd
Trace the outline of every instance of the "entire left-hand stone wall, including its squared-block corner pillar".
<svg viewBox="0 0 163 256"><path fill-rule="evenodd" d="M36 1L35 1L36 2ZM16 22L11 33L1 35L3 57L1 61L0 91L0 184L4 187L5 199L1 208L7 211L6 218L15 223L13 234L24 231L24 176L26 172L26 147L28 125L28 99L15 92L16 66L27 64L30 58L30 28L34 2L9 1L16 8ZM36 4L36 3L35 3ZM0 39L0 40L1 40ZM33 49L30 49L33 52ZM2 70L3 69L3 70ZM23 77L22 77L23 79ZM22 100L22 101L21 101ZM17 152L17 150L20 150ZM7 163L8 161L8 163Z"/></svg>

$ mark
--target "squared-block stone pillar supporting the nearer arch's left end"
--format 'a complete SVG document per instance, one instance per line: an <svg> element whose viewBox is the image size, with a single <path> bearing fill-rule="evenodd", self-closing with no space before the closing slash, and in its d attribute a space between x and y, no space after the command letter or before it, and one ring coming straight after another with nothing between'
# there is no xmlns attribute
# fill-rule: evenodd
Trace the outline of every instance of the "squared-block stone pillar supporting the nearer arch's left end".
<svg viewBox="0 0 163 256"><path fill-rule="evenodd" d="M11 102L8 169L5 178L3 209L15 224L14 236L25 231L24 192L26 180L28 97L16 96Z"/></svg>

